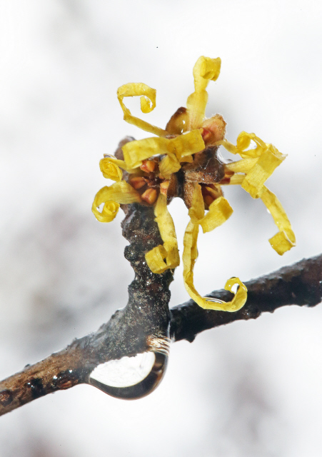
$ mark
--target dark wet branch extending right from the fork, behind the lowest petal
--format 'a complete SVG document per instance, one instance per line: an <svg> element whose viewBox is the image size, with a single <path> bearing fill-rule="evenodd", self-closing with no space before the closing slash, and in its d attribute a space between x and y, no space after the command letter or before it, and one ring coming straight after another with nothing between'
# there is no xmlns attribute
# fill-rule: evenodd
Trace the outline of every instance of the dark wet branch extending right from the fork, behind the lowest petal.
<svg viewBox="0 0 322 457"><path fill-rule="evenodd" d="M193 341L197 333L233 321L256 319L263 312L273 313L288 305L316 306L322 298L322 254L303 259L267 276L245 283L247 302L236 313L206 311L193 300L171 309L171 337L174 341ZM213 291L208 296L229 301L228 291Z"/></svg>

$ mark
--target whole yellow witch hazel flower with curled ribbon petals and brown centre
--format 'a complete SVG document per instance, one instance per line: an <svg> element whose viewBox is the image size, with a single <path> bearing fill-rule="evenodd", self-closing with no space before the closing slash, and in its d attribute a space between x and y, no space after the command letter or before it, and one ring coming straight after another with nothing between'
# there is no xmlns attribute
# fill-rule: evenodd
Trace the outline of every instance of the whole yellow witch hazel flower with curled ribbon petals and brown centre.
<svg viewBox="0 0 322 457"><path fill-rule="evenodd" d="M181 107L173 114L165 130L132 116L124 104L125 97L141 96L141 111L149 113L156 106L155 89L143 83L125 84L118 89L124 120L156 136L124 144L121 159L109 155L101 159L100 169L104 177L116 182L96 194L92 211L99 221L110 222L120 204L153 205L163 245L147 252L146 262L154 273L163 273L180 263L168 204L173 197L181 197L190 216L182 256L186 290L203 308L238 311L247 299L246 286L239 278L231 278L226 283L228 291L238 285L233 300L228 303L202 297L193 285L199 226L203 233L212 231L233 212L223 197L221 186L240 184L253 199L263 201L278 226L278 233L269 240L278 254L282 255L295 246L296 239L280 201L264 185L286 156L272 144L266 144L255 134L245 131L238 135L235 146L225 138L226 122L222 116L216 114L210 119L205 118L206 87L209 81L216 81L220 69L219 58L201 56L198 59L193 68L195 90L188 96L186 108ZM253 144L255 147L250 147ZM241 160L224 164L217 156L220 145L231 154L241 156ZM99 211L101 204L104 207Z"/></svg>

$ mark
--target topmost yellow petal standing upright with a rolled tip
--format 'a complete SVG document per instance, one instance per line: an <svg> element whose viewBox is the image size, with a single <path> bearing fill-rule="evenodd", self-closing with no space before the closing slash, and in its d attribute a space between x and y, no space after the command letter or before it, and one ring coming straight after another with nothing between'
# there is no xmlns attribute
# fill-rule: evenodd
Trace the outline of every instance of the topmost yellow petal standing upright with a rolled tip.
<svg viewBox="0 0 322 457"><path fill-rule="evenodd" d="M221 59L211 59L210 57L201 56L193 67L193 79L195 91L188 96L188 130L198 129L201 127L205 117L208 94L206 87L208 82L216 81L220 74Z"/></svg>

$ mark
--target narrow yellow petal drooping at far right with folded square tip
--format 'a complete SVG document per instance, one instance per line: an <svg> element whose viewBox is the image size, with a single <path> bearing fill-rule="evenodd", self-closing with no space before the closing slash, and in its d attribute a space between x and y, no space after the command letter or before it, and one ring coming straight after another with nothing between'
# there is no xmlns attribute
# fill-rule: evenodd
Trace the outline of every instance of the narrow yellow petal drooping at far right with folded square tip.
<svg viewBox="0 0 322 457"><path fill-rule="evenodd" d="M271 213L275 224L278 226L278 233L270 238L272 248L282 256L283 253L289 251L293 246L296 246L296 238L291 227L291 222L286 216L286 212L275 194L263 186L261 192L261 201Z"/></svg>

